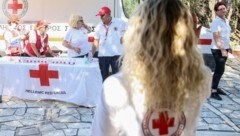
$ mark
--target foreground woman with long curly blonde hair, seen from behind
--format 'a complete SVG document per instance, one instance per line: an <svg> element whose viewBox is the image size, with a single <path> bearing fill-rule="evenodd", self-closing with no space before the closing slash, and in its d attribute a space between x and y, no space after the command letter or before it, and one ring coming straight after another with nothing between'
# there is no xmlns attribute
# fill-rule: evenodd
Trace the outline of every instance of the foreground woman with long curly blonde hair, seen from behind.
<svg viewBox="0 0 240 136"><path fill-rule="evenodd" d="M196 40L181 1L145 0L124 35L122 72L104 82L93 135L195 135L211 83Z"/></svg>

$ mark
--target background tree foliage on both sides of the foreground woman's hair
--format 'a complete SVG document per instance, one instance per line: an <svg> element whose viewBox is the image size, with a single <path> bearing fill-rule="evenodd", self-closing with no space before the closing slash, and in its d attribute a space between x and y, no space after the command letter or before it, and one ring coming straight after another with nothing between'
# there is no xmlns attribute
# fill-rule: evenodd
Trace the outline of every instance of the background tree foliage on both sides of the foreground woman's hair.
<svg viewBox="0 0 240 136"><path fill-rule="evenodd" d="M144 0L122 0L124 11L127 17L136 9L141 1ZM240 41L240 0L182 0L187 4L198 17L198 24L210 27L210 23L215 18L213 10L215 3L223 1L227 5L227 19L232 28L232 40L239 45Z"/></svg>

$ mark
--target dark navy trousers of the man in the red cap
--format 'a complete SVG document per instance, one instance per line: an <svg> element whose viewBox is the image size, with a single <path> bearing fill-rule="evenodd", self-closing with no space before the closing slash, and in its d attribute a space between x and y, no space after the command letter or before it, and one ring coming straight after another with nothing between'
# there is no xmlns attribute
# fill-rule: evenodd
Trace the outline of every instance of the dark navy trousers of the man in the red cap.
<svg viewBox="0 0 240 136"><path fill-rule="evenodd" d="M119 71L119 61L118 61L119 57L120 56L98 57L103 81L109 76L110 66L112 69L112 74L115 74Z"/></svg>

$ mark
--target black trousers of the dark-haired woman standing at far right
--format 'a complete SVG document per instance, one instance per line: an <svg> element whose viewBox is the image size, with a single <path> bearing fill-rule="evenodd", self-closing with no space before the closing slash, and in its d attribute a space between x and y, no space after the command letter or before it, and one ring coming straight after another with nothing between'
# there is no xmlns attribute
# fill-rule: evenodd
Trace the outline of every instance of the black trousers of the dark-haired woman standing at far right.
<svg viewBox="0 0 240 136"><path fill-rule="evenodd" d="M227 57L222 56L220 49L211 49L211 51L216 64L212 79L212 89L217 89L220 79L225 71L225 63L227 61ZM228 51L229 50L227 49L227 52Z"/></svg>

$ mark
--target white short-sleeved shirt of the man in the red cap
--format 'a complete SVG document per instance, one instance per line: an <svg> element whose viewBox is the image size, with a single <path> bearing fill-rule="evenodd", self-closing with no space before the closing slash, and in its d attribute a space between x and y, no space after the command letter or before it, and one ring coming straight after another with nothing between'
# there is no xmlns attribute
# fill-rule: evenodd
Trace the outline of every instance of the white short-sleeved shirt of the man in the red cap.
<svg viewBox="0 0 240 136"><path fill-rule="evenodd" d="M99 39L98 56L112 57L121 55L123 46L120 38L126 30L126 23L120 19L112 18L110 25L106 26L102 22L95 28L94 39Z"/></svg>

